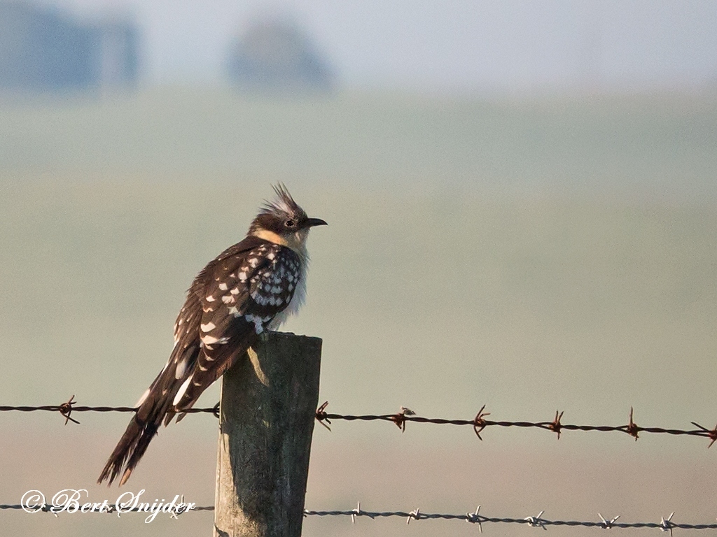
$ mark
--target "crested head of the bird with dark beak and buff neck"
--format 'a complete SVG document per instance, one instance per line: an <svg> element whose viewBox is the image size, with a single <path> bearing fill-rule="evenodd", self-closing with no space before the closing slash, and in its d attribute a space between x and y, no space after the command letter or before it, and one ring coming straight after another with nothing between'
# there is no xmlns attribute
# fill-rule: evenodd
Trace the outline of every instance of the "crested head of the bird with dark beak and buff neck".
<svg viewBox="0 0 717 537"><path fill-rule="evenodd" d="M249 234L287 246L305 255L306 238L313 226L326 226L320 218L309 218L291 197L285 185L274 187L276 198L267 201L252 221Z"/></svg>

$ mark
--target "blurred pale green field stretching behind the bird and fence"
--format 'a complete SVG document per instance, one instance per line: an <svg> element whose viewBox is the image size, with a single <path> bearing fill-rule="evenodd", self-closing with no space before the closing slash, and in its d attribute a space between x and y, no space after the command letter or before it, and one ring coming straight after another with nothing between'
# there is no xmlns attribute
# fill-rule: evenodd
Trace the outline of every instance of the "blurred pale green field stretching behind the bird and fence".
<svg viewBox="0 0 717 537"><path fill-rule="evenodd" d="M331 410L406 405L473 417L485 403L496 419L549 420L560 409L564 422L619 425L635 405L640 425L711 427L715 147L710 95L267 100L156 89L114 100L6 99L0 403L75 394L82 404L133 404L171 349L194 274L242 238L270 183L283 180L329 222L310 239L308 303L285 328L323 338L320 397ZM200 404L216 400L215 388ZM10 467L0 470L9 475L0 503L43 486L107 495L92 483L125 417L83 415L75 429L37 414L0 420L0 464ZM489 498L498 516L552 502L554 518L559 506L564 518L594 518L592 505L604 502L630 520L659 521L675 509L690 522L713 518L713 480L690 484L690 468L705 476L717 465L699 440L566 433L556 444L541 432L491 430L481 443L472 435L318 429L308 507L353 508L360 499L365 508L465 512ZM214 422L201 417L163 431L130 486L173 494L181 486L211 503L205 474L215 437ZM62 453L66 463L17 465L25 453ZM185 483L171 461L188 454L204 470L188 471ZM574 471L549 472L554 459ZM427 469L406 480L410 460ZM674 486L657 491L650 475L675 460ZM545 486L535 488L528 461ZM614 478L630 472L634 481ZM587 511L576 512L580 505ZM653 516L652 507L662 511ZM11 516L15 534L127 531ZM192 516L201 523L187 516L133 531L208 533L209 519ZM309 535L353 531L346 521L309 524ZM361 535L397 528L382 524L362 520ZM475 530L463 526L450 527Z"/></svg>

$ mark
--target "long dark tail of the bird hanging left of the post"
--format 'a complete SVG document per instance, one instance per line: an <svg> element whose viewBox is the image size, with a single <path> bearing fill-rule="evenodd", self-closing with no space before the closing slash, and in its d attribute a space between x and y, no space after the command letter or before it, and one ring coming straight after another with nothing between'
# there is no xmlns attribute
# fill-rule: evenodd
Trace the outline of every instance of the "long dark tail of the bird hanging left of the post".
<svg viewBox="0 0 717 537"><path fill-rule="evenodd" d="M152 393L153 391L150 391L130 420L127 430L102 470L100 478L97 480L98 483L108 480L108 485L111 485L115 478L122 473L120 486L124 485L146 452L149 442L157 434L164 417L168 413L174 415L171 392L161 395L160 391L157 397Z"/></svg>

